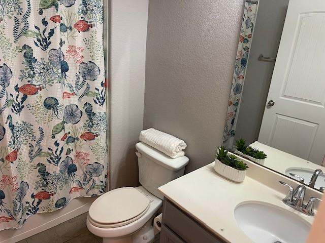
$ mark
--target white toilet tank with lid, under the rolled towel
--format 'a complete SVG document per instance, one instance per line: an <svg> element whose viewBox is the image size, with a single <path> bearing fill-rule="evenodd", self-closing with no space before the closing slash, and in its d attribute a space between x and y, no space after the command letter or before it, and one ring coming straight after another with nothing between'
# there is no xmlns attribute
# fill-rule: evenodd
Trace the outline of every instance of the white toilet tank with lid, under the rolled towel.
<svg viewBox="0 0 325 243"><path fill-rule="evenodd" d="M150 193L163 199L158 187L184 175L186 156L171 158L145 143L137 143L139 182Z"/></svg>

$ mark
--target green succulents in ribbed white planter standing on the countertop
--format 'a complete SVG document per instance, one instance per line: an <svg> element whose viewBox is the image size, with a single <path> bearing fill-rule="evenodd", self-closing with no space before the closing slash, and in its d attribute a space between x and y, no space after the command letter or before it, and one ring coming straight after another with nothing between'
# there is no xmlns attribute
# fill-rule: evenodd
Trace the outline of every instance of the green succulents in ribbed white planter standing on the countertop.
<svg viewBox="0 0 325 243"><path fill-rule="evenodd" d="M221 176L235 182L245 179L248 166L235 155L228 155L228 151L221 146L216 154L214 170Z"/></svg>

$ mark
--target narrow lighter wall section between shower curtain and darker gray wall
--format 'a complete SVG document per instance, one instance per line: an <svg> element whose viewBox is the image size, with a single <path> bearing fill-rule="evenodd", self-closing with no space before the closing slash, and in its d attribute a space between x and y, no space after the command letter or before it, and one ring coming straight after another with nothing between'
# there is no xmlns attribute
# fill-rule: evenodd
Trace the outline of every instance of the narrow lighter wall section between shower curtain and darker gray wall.
<svg viewBox="0 0 325 243"><path fill-rule="evenodd" d="M109 187L137 186L148 0L111 0Z"/></svg>

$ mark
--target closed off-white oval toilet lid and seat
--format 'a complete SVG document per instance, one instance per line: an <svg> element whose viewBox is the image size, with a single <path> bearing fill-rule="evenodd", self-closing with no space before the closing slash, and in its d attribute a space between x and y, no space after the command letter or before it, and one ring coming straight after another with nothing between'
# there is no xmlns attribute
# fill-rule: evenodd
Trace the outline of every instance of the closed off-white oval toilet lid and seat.
<svg viewBox="0 0 325 243"><path fill-rule="evenodd" d="M119 227L137 220L149 206L150 200L140 191L123 187L97 198L89 208L89 217L98 227Z"/></svg>

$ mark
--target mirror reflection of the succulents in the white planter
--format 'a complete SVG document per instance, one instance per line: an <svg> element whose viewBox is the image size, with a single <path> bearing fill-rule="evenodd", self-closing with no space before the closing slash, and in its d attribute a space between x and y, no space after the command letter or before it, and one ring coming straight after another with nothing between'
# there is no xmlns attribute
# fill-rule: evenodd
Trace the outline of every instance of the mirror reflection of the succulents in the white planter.
<svg viewBox="0 0 325 243"><path fill-rule="evenodd" d="M247 146L245 139L236 140L236 153L245 158L249 158L259 165L264 165L267 155L263 151L259 151L253 147Z"/></svg>

